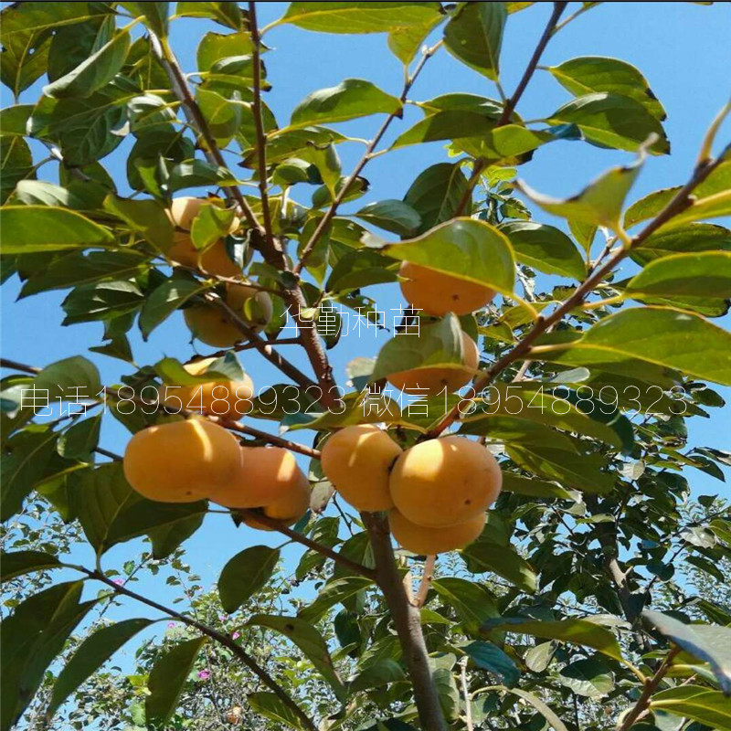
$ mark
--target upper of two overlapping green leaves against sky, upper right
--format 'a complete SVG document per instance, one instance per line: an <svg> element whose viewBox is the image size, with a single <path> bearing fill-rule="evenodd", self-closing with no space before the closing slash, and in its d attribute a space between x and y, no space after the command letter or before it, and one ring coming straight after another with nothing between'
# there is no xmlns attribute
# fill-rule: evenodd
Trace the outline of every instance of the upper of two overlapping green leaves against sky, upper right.
<svg viewBox="0 0 731 731"><path fill-rule="evenodd" d="M581 56L546 70L574 96L604 91L639 102L660 122L666 117L665 110L652 93L647 79L627 61L601 56Z"/></svg>

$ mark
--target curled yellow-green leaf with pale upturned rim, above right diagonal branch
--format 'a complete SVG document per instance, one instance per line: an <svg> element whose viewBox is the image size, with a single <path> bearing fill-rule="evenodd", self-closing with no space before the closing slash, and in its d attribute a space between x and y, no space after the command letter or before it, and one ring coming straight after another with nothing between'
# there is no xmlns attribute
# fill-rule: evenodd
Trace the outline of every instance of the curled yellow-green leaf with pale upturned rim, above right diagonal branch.
<svg viewBox="0 0 731 731"><path fill-rule="evenodd" d="M613 167L576 196L566 200L544 196L520 181L518 187L534 203L548 213L572 221L606 226L616 230L620 224L622 205L630 192L643 163L640 156L635 163Z"/></svg>

